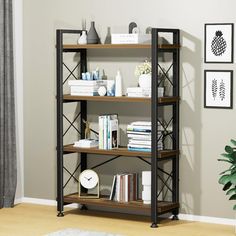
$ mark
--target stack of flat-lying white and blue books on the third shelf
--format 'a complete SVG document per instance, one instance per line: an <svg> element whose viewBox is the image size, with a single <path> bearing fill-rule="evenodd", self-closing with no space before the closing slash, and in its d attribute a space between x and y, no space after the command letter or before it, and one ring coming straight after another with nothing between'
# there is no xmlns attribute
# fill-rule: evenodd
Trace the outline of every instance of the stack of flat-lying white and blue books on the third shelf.
<svg viewBox="0 0 236 236"><path fill-rule="evenodd" d="M158 123L158 149L163 149L163 142L161 140L162 128ZM128 150L151 152L151 132L152 126L149 121L136 121L127 126L127 136L129 139Z"/></svg>

